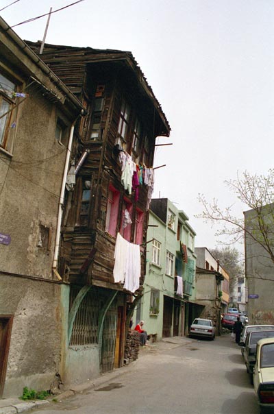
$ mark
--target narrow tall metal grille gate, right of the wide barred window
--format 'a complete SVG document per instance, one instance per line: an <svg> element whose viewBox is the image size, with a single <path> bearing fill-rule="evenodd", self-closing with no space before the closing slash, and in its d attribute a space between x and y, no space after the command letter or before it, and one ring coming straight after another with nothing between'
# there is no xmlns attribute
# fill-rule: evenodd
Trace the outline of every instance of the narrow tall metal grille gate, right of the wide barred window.
<svg viewBox="0 0 274 414"><path fill-rule="evenodd" d="M101 350L101 372L112 371L117 329L117 301L114 300L105 315Z"/></svg>

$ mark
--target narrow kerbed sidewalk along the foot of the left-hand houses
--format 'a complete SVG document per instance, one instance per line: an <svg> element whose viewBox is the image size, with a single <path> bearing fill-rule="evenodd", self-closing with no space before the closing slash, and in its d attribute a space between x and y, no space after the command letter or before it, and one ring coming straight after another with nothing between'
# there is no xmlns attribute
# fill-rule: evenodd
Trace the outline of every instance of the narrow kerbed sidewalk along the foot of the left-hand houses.
<svg viewBox="0 0 274 414"><path fill-rule="evenodd" d="M171 350L172 348L177 348L178 346L188 345L192 343L192 339L187 337L172 337L172 338L164 338L162 341L158 341L155 343L149 343L148 346L140 347L139 358L145 356L147 354L154 354L156 352L162 352L164 350ZM105 384L105 382L110 382L123 374L129 372L129 370L134 369L137 361L130 363L129 365L124 365L121 368L114 369L112 372L108 372L99 376L99 378L95 378L88 382L84 382L79 385L75 385L73 387L69 387L69 389L64 389L62 393L58 395L51 395L49 400L34 400L34 401L23 401L20 398L6 398L0 400L0 414L17 414L23 413L24 411L28 411L34 409L34 407L38 406L45 406L47 404L52 404L54 402L61 402L65 398L71 397L76 393L82 393L88 389L97 388L101 385Z"/></svg>

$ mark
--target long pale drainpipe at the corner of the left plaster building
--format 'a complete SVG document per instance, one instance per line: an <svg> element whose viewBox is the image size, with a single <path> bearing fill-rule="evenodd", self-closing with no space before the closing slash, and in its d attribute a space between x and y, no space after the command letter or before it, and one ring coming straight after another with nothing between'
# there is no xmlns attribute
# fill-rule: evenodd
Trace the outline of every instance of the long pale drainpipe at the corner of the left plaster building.
<svg viewBox="0 0 274 414"><path fill-rule="evenodd" d="M63 174L60 200L59 200L59 206L58 206L58 219L57 219L55 248L54 248L53 265L52 265L52 271L59 280L62 280L62 278L57 270L57 261L58 261L58 254L59 254L59 248L60 248L60 234L61 234L61 223L62 223L63 206L64 206L64 192L66 189L66 176L68 175L68 171L69 171L69 159L71 157L71 147L73 145L74 127L75 127L75 121L71 125L71 133L69 135L69 144L66 150L66 162L64 165L64 174Z"/></svg>

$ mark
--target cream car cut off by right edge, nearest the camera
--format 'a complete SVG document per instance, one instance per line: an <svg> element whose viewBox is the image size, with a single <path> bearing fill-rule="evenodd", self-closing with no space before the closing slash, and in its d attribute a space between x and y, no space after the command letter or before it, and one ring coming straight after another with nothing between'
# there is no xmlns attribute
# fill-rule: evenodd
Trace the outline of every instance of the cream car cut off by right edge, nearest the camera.
<svg viewBox="0 0 274 414"><path fill-rule="evenodd" d="M269 409L274 413L274 338L260 339L257 343L253 385L261 414Z"/></svg>

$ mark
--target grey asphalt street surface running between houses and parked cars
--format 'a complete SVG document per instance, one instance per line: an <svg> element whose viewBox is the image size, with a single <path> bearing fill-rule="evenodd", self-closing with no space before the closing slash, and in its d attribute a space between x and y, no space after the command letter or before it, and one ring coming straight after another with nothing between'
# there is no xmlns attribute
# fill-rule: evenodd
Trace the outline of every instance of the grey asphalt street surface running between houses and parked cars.
<svg viewBox="0 0 274 414"><path fill-rule="evenodd" d="M58 414L258 414L240 348L229 334L215 341L145 347L134 368L101 387L50 408Z"/></svg>

